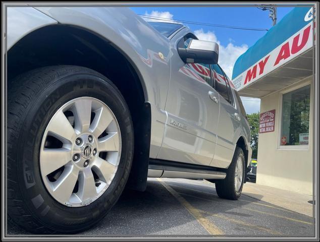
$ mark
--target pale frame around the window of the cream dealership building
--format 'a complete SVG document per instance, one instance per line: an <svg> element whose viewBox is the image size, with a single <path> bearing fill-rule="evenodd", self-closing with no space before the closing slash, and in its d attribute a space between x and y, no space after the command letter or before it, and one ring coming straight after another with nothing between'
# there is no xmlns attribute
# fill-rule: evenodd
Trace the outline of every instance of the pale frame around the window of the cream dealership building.
<svg viewBox="0 0 320 242"><path fill-rule="evenodd" d="M282 136L282 101L283 101L283 95L292 91L295 91L297 89L300 89L302 87L310 86L310 104L311 104L311 82L301 83L297 86L288 88L286 90L280 91L280 97L279 97L279 111L278 111L278 125L277 125L277 132L278 132L278 139L277 139L277 147L276 150L309 150L310 142L308 142L308 145L281 145L281 136ZM309 112L309 137L310 137L310 113L311 113L311 105L310 105L310 112Z"/></svg>

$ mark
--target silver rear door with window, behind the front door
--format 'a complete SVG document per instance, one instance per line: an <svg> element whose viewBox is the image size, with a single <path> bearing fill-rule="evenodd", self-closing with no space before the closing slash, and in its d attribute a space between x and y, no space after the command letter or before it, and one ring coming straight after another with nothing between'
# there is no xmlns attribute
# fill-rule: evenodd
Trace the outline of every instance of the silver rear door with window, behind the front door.
<svg viewBox="0 0 320 242"><path fill-rule="evenodd" d="M211 166L227 168L233 157L237 138L241 134L241 116L235 108L230 80L220 66L211 65L212 79L220 96L217 147Z"/></svg>

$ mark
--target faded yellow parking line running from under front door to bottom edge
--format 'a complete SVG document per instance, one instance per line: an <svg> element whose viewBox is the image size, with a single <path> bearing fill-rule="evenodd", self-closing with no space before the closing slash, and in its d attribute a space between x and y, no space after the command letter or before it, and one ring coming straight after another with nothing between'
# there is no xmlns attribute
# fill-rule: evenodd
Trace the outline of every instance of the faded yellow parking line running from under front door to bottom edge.
<svg viewBox="0 0 320 242"><path fill-rule="evenodd" d="M194 208L187 200L181 197L175 190L167 185L160 178L157 178L161 183L180 203L187 211L201 224L201 226L209 233L213 235L222 235L224 232L219 229L214 223L210 222L206 217L202 216L200 210Z"/></svg>

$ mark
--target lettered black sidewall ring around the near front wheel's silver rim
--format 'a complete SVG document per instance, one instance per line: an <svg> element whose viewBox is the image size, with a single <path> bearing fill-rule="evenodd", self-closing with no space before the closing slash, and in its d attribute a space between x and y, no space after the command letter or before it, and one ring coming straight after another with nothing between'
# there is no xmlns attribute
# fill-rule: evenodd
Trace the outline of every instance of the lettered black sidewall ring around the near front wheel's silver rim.
<svg viewBox="0 0 320 242"><path fill-rule="evenodd" d="M46 227L64 232L89 227L111 209L126 184L133 157L129 109L109 80L93 74L67 75L38 93L36 100L29 103L30 109L16 150L17 176L22 195L31 214ZM39 151L50 118L66 102L83 96L96 98L113 111L121 131L122 151L117 173L109 188L91 204L74 208L62 205L46 190L40 174Z"/></svg>

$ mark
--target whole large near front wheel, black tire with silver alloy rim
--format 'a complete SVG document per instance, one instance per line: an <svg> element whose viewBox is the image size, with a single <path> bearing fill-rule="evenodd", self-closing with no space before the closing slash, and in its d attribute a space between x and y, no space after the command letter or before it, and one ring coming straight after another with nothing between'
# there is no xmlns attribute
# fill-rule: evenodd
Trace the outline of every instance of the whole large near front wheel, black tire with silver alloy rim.
<svg viewBox="0 0 320 242"><path fill-rule="evenodd" d="M74 233L119 199L133 125L113 83L90 69L46 67L8 88L8 215L34 233Z"/></svg>

